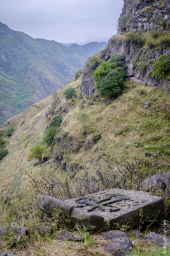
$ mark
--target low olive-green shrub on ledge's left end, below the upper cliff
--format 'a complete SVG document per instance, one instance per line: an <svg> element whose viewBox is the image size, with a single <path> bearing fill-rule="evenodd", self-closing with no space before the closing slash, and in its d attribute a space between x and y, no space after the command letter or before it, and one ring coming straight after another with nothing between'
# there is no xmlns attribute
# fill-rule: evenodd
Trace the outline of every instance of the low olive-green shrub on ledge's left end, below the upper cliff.
<svg viewBox="0 0 170 256"><path fill-rule="evenodd" d="M138 32L131 31L125 35L125 42L134 46L143 46L145 45L146 40L145 38L141 37Z"/></svg>

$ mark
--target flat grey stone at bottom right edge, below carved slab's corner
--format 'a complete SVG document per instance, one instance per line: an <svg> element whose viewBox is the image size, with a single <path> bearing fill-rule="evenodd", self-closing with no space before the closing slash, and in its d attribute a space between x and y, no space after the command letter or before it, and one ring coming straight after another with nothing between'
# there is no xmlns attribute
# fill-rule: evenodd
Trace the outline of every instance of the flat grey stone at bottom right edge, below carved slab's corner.
<svg viewBox="0 0 170 256"><path fill-rule="evenodd" d="M170 243L170 239L166 236L161 236L155 232L151 232L145 236L145 241L152 241L157 246L164 246L165 243Z"/></svg>

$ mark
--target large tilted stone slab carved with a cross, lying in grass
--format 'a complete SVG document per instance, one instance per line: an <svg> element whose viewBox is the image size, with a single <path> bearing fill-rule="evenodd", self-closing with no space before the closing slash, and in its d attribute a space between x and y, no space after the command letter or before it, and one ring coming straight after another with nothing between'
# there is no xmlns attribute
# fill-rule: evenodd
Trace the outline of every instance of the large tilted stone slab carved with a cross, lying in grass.
<svg viewBox="0 0 170 256"><path fill-rule="evenodd" d="M164 211L164 200L143 191L109 189L80 198L59 200L50 196L38 196L39 209L48 214L60 209L72 223L79 223L90 229L113 229L118 225L134 227L139 224L139 211L143 220L149 220ZM109 223L109 226L107 225Z"/></svg>

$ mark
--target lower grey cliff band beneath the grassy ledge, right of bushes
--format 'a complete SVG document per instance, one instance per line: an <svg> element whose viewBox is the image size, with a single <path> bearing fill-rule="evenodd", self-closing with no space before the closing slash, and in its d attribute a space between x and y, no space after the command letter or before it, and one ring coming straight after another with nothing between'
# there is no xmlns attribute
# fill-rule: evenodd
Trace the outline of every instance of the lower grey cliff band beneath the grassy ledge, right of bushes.
<svg viewBox="0 0 170 256"><path fill-rule="evenodd" d="M161 54L169 53L169 46L162 45L158 49L141 48L138 45L132 45L125 42L121 36L114 36L108 42L106 48L101 52L103 61L109 60L112 54L120 54L125 56L127 64L127 79L144 83L148 86L158 86L164 91L169 90L169 82L163 79L153 79L150 72L152 64Z"/></svg>

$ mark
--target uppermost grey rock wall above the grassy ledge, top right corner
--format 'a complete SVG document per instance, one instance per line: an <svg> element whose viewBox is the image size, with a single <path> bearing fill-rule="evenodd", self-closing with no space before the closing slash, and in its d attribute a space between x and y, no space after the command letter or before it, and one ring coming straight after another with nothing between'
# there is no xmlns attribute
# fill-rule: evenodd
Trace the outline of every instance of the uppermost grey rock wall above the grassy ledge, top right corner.
<svg viewBox="0 0 170 256"><path fill-rule="evenodd" d="M120 19L129 15L126 31L143 32L168 29L169 8L168 0L124 0Z"/></svg>

